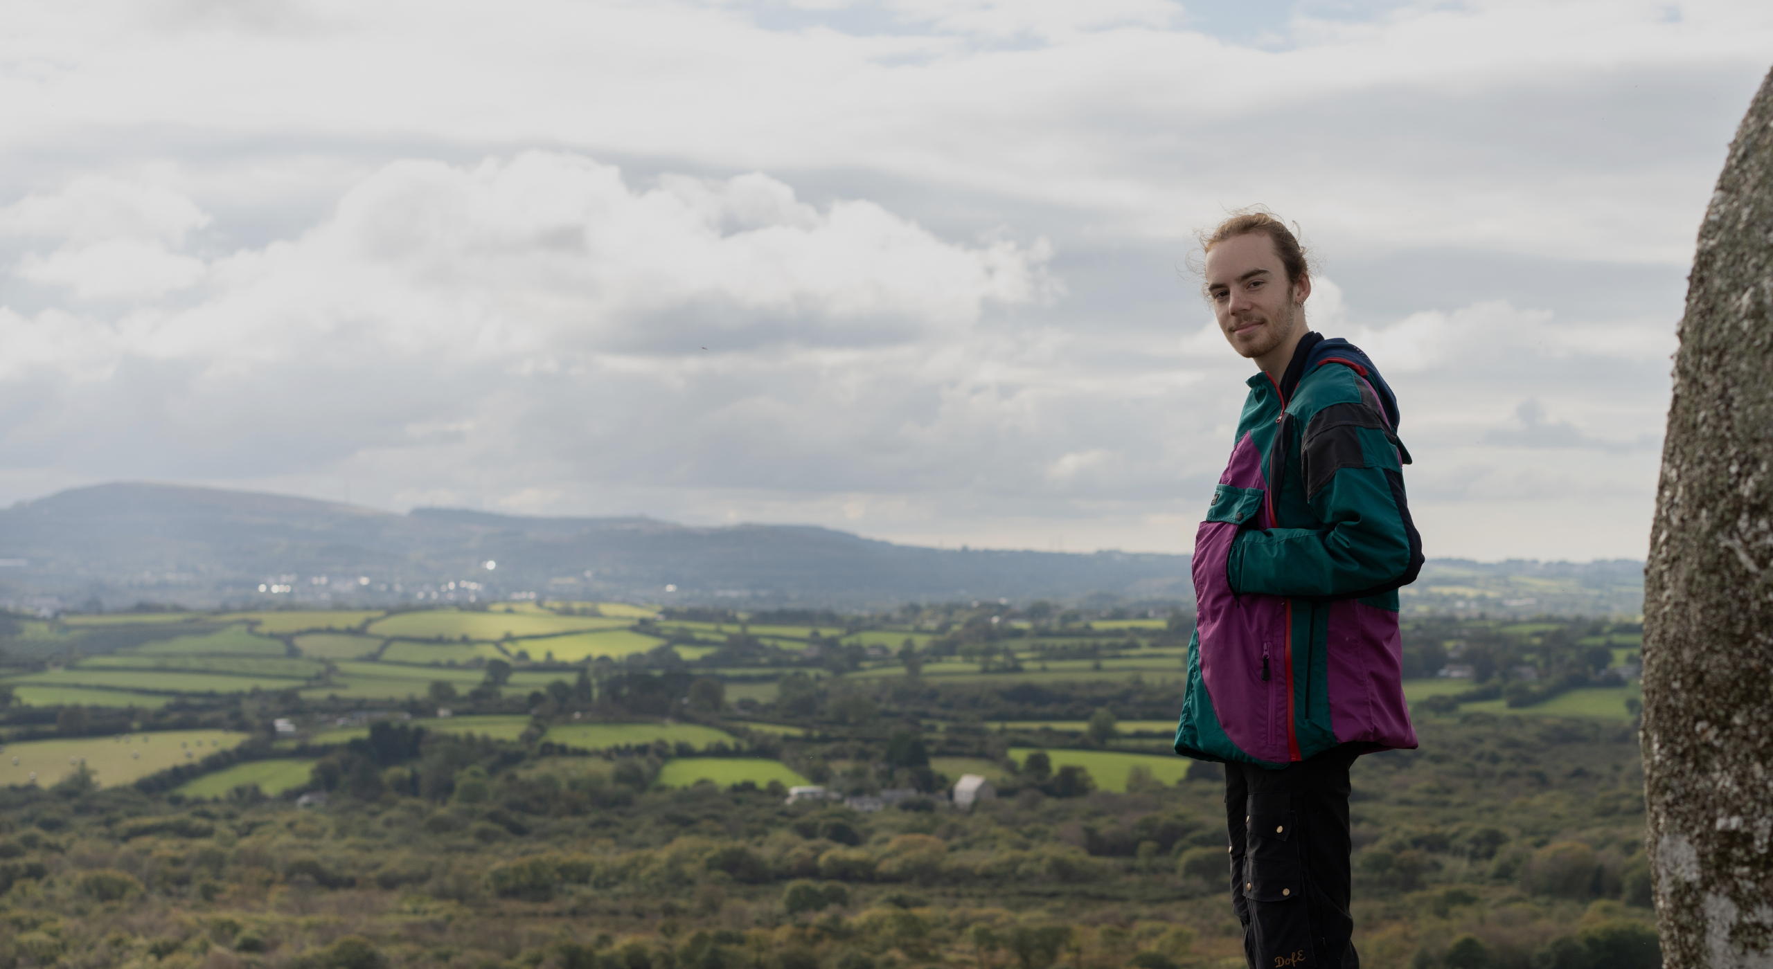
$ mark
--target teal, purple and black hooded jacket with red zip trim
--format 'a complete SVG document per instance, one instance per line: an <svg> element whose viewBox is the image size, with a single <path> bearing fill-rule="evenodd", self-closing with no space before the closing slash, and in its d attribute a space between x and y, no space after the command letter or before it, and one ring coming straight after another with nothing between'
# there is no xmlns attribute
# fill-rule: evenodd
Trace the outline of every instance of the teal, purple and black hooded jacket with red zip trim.
<svg viewBox="0 0 1773 969"><path fill-rule="evenodd" d="M1250 377L1195 537L1175 753L1285 767L1339 744L1415 748L1397 590L1422 569L1397 399L1347 340L1307 333Z"/></svg>

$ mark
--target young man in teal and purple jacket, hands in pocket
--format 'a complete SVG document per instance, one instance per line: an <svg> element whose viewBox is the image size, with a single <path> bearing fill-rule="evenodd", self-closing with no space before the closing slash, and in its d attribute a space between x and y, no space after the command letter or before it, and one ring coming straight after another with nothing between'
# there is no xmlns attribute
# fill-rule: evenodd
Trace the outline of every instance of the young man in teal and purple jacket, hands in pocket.
<svg viewBox="0 0 1773 969"><path fill-rule="evenodd" d="M1417 746L1397 636L1397 588L1422 567L1410 452L1367 354L1305 328L1312 278L1285 223L1239 213L1202 248L1220 329L1261 370L1195 537L1175 753L1225 764L1250 965L1355 967L1347 769Z"/></svg>

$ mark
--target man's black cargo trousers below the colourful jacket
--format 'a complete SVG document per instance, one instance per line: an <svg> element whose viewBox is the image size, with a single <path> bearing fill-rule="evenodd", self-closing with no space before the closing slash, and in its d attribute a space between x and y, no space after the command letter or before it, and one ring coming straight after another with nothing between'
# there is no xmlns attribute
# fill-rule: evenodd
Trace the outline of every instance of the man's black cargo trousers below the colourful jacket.
<svg viewBox="0 0 1773 969"><path fill-rule="evenodd" d="M1347 744L1268 771L1225 765L1230 902L1252 969L1358 969L1349 944Z"/></svg>

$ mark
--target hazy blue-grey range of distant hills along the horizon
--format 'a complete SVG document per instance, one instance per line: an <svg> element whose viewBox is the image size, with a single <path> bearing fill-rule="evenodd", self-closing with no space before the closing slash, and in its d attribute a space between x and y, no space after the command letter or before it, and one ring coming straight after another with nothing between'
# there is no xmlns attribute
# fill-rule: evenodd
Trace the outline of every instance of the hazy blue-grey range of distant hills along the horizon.
<svg viewBox="0 0 1773 969"><path fill-rule="evenodd" d="M1642 569L1624 560L1434 560L1404 590L1404 609L1638 613ZM0 510L0 601L16 606L394 604L433 593L438 602L537 593L748 608L1087 597L1190 604L1193 583L1186 554L931 549L828 528L691 528L649 517L399 516L156 484L80 487Z"/></svg>

